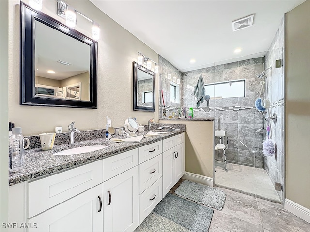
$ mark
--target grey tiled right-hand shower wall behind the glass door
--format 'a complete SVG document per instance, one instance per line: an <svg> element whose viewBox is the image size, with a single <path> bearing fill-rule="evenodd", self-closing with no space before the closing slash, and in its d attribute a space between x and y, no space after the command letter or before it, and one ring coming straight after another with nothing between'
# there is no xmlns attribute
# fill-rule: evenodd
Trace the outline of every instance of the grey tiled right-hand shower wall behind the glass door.
<svg viewBox="0 0 310 232"><path fill-rule="evenodd" d="M277 123L270 121L272 129L272 140L275 143L276 154L265 158L265 169L269 174L272 183L279 182L284 186L285 174L285 149L284 149L284 66L275 68L276 60L284 58L284 17L281 20L277 33L271 43L265 59L265 67L272 67L271 71L267 71L268 92L271 107L268 111L269 116L275 112L277 114ZM268 114L267 114L268 116ZM284 189L284 188L283 188ZM280 199L284 200L284 191L277 191Z"/></svg>

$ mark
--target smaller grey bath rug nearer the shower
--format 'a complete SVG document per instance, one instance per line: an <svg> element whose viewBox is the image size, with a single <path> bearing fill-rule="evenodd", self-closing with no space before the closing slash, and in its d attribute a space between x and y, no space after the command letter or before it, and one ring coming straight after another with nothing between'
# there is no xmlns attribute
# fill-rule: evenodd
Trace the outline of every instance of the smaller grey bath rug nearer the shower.
<svg viewBox="0 0 310 232"><path fill-rule="evenodd" d="M217 210L223 209L226 199L224 191L189 180L183 181L174 193Z"/></svg>

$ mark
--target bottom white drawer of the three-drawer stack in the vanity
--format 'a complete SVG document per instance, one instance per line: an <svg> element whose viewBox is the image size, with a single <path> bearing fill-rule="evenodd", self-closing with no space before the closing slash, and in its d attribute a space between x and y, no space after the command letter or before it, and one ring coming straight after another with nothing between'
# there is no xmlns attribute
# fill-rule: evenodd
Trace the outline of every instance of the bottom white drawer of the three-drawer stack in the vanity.
<svg viewBox="0 0 310 232"><path fill-rule="evenodd" d="M139 224L152 212L162 198L162 178L160 178L139 195Z"/></svg>

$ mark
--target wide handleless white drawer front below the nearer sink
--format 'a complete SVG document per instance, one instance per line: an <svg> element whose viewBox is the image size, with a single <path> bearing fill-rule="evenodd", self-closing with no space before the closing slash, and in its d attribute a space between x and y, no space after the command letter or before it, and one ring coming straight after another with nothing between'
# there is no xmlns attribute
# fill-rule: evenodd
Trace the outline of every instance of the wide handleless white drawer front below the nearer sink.
<svg viewBox="0 0 310 232"><path fill-rule="evenodd" d="M28 184L28 217L102 183L102 160Z"/></svg>

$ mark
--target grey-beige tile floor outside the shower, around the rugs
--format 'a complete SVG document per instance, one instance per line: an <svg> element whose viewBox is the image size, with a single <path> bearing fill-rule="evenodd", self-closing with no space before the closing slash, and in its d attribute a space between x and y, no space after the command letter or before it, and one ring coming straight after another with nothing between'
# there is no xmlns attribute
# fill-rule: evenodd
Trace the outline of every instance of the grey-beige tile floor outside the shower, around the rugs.
<svg viewBox="0 0 310 232"><path fill-rule="evenodd" d="M171 193L182 183L171 189ZM219 188L219 187L215 187ZM209 232L309 232L310 224L285 210L282 204L225 188L221 211L214 210Z"/></svg>

